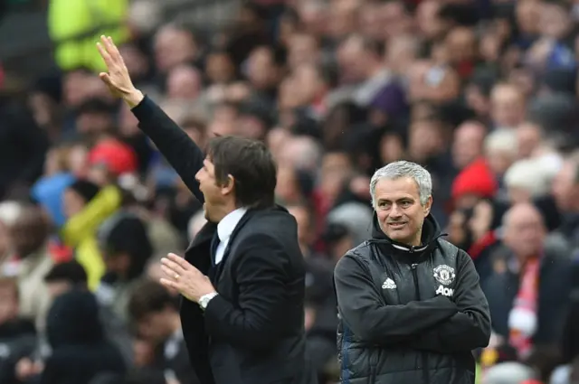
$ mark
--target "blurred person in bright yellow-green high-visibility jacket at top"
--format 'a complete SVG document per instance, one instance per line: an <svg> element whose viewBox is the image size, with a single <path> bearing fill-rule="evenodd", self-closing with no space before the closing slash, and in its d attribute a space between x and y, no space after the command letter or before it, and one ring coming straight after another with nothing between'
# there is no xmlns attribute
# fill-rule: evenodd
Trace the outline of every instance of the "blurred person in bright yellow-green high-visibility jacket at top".
<svg viewBox="0 0 579 384"><path fill-rule="evenodd" d="M112 36L115 42L126 42L127 14L128 0L50 0L48 30L59 68L106 70L94 43L101 34ZM79 35L81 38L75 39Z"/></svg>

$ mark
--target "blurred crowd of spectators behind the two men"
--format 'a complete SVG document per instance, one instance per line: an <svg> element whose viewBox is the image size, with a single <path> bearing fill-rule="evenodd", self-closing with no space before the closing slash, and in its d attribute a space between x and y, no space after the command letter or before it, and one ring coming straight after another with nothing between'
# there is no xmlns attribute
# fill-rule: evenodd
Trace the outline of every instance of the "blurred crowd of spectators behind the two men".
<svg viewBox="0 0 579 384"><path fill-rule="evenodd" d="M198 145L270 146L321 383L339 380L333 266L399 159L432 173L479 271L479 382L579 382L578 21L573 0L1 2L0 383L197 383L157 279L203 212L100 83L103 33Z"/></svg>

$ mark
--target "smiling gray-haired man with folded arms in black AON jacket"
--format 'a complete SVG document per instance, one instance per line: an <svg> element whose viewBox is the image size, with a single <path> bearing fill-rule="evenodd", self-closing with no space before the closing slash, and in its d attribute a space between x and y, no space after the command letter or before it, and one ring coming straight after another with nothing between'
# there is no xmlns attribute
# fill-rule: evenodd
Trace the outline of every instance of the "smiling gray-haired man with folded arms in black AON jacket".
<svg viewBox="0 0 579 384"><path fill-rule="evenodd" d="M334 272L342 383L474 383L489 304L469 255L440 239L430 173L391 163L370 191L373 238Z"/></svg>

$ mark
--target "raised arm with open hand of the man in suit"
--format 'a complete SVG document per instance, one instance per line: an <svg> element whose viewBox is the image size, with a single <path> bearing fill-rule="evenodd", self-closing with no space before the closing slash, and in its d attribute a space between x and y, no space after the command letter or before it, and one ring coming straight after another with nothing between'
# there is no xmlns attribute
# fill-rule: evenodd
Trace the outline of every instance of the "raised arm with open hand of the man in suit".
<svg viewBox="0 0 579 384"><path fill-rule="evenodd" d="M157 104L135 88L119 49L110 37L101 36L97 47L109 70L100 73L100 79L113 96L125 100L138 118L139 128L157 145L189 191L204 202L199 183L195 180L195 174L203 167L201 149Z"/></svg>

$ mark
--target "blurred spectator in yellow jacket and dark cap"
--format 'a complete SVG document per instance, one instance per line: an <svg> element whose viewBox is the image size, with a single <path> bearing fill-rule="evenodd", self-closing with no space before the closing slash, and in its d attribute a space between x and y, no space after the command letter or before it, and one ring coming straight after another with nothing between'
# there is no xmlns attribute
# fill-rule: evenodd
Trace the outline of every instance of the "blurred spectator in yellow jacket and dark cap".
<svg viewBox="0 0 579 384"><path fill-rule="evenodd" d="M100 188L95 183L78 180L66 189L63 199L67 220L61 238L64 244L74 249L75 258L89 276L89 288L94 290L105 272L96 239L97 230L119 208L121 193L114 185Z"/></svg>

